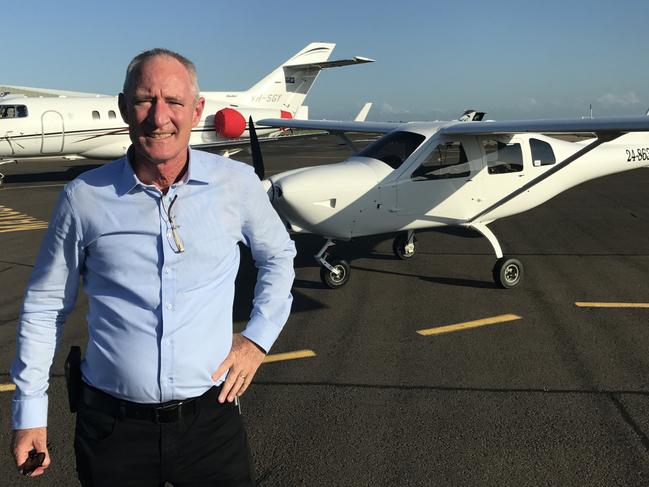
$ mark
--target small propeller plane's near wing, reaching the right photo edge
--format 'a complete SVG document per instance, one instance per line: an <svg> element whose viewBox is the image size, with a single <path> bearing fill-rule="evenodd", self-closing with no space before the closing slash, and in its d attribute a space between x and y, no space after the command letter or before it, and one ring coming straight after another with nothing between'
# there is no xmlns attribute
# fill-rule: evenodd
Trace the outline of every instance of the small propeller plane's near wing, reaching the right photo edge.
<svg viewBox="0 0 649 487"><path fill-rule="evenodd" d="M649 131L649 117L602 117L586 119L519 120L509 122L458 122L439 130L442 135L595 133L622 134Z"/></svg>

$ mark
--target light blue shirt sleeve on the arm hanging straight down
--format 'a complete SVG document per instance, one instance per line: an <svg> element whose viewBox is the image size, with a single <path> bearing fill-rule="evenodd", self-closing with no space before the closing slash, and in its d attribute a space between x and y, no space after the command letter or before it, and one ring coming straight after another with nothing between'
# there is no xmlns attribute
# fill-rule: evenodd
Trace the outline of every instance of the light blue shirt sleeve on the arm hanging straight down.
<svg viewBox="0 0 649 487"><path fill-rule="evenodd" d="M61 192L29 279L16 336L11 377L13 428L47 425L47 388L63 322L74 306L83 265L80 226Z"/></svg>

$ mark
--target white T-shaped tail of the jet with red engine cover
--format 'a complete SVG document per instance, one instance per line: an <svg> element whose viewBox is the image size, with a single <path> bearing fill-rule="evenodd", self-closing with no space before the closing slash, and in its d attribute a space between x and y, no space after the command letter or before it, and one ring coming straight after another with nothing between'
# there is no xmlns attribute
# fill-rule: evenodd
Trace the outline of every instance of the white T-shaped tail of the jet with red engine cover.
<svg viewBox="0 0 649 487"><path fill-rule="evenodd" d="M246 91L246 101L262 108L279 108L294 117L321 70L373 61L362 57L328 61L335 46L309 44Z"/></svg>

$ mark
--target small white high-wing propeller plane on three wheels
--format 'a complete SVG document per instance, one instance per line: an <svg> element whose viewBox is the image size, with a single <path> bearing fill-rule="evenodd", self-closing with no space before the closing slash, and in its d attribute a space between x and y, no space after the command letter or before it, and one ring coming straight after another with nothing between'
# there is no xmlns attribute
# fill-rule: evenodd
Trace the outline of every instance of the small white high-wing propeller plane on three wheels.
<svg viewBox="0 0 649 487"><path fill-rule="evenodd" d="M322 281L344 285L350 266L332 257L335 240L396 233L394 253L415 254L414 232L441 226L476 230L491 243L496 284L523 277L520 260L503 256L489 223L534 208L585 181L649 166L649 117L482 121L467 111L450 122L259 120L266 127L385 134L344 162L304 167L264 181L273 206L294 233L321 235L315 256ZM589 134L569 142L557 134ZM594 137L593 137L594 136ZM263 179L259 147L253 160Z"/></svg>

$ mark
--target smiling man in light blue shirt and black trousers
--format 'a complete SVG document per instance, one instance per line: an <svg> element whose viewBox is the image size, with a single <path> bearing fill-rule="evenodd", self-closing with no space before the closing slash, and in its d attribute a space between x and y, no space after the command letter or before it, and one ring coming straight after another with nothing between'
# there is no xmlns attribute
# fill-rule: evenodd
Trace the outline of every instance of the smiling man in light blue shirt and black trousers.
<svg viewBox="0 0 649 487"><path fill-rule="evenodd" d="M12 366L16 464L47 451L48 372L80 278L89 341L75 452L84 486L253 485L238 409L290 310L295 248L249 166L194 151L205 100L163 49L129 64L126 157L63 190L25 293ZM232 334L238 242L258 267Z"/></svg>

